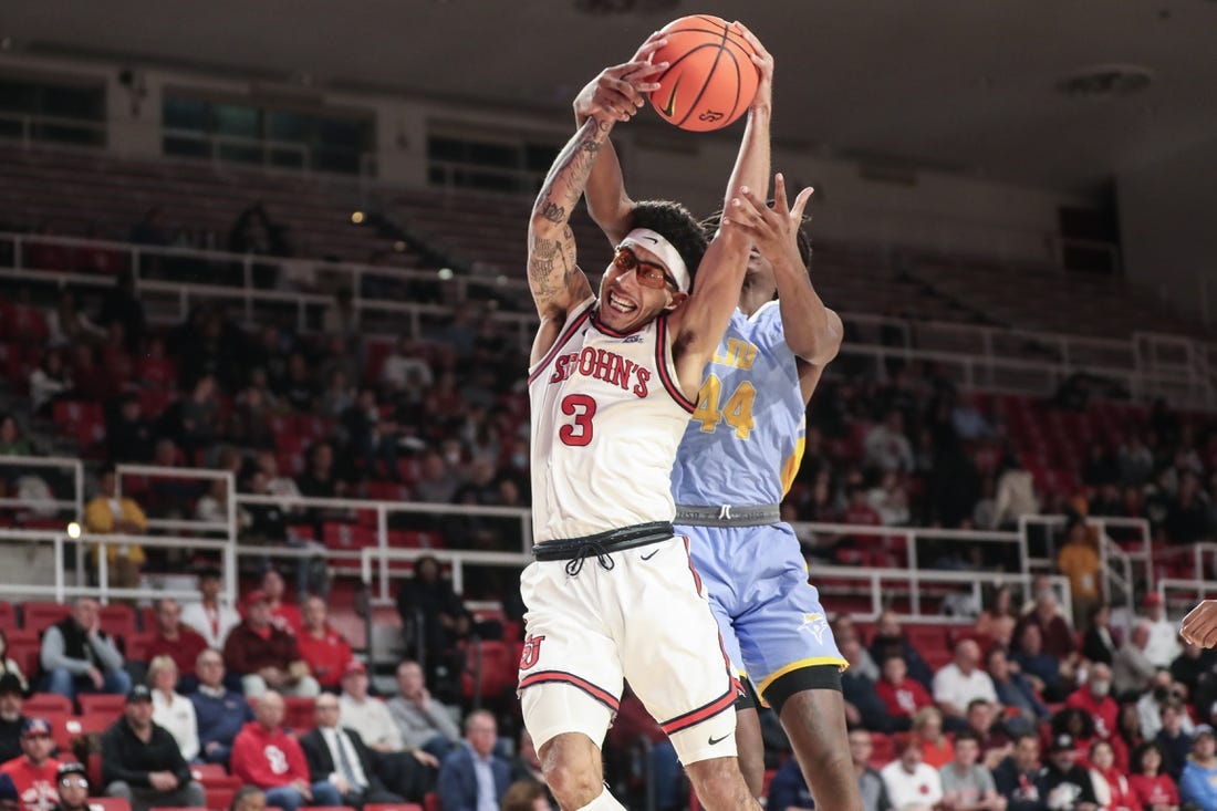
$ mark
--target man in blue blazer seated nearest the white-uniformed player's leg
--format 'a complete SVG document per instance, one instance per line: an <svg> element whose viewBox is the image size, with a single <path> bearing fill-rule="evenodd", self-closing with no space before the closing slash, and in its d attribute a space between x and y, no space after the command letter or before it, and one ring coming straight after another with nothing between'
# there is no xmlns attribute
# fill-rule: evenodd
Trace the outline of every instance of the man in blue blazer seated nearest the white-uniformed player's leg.
<svg viewBox="0 0 1217 811"><path fill-rule="evenodd" d="M486 710L465 718L465 745L456 746L439 766L439 805L444 811L482 811L498 807L511 782L507 761L494 754L498 727Z"/></svg>

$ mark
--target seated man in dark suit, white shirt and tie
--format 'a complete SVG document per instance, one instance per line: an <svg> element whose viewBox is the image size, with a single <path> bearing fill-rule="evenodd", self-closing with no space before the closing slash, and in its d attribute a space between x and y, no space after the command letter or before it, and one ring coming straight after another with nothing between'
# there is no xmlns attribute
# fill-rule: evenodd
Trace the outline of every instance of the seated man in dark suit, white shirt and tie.
<svg viewBox="0 0 1217 811"><path fill-rule="evenodd" d="M404 802L385 788L376 774L375 755L359 733L340 726L338 697L323 693L316 699L316 727L301 738L309 779L327 782L342 795L342 805Z"/></svg>

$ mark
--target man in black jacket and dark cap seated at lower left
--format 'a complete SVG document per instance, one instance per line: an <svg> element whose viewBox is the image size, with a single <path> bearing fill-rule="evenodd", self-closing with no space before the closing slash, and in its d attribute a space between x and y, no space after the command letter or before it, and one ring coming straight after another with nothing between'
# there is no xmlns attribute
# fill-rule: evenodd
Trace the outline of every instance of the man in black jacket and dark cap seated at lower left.
<svg viewBox="0 0 1217 811"><path fill-rule="evenodd" d="M206 806L178 742L152 723L152 693L142 684L127 694L123 717L101 737L101 782L107 796L125 799L131 811Z"/></svg>

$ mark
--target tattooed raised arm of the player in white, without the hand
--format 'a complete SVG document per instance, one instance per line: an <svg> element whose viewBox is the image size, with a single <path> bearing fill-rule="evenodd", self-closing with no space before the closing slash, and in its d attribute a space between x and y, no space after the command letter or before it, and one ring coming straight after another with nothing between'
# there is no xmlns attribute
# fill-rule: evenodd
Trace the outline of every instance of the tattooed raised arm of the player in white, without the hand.
<svg viewBox="0 0 1217 811"><path fill-rule="evenodd" d="M588 278L576 264L570 218L611 129L611 121L584 122L555 158L533 203L528 220L528 286L540 315L533 363L553 346L570 309L591 295Z"/></svg>

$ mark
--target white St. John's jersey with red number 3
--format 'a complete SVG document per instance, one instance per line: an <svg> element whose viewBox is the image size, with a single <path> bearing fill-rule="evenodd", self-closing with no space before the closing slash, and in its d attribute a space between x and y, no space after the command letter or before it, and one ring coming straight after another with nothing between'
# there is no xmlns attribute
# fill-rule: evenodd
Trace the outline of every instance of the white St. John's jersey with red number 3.
<svg viewBox="0 0 1217 811"><path fill-rule="evenodd" d="M673 371L667 317L623 335L594 304L576 308L528 370L537 543L675 518L672 465L694 403Z"/></svg>

